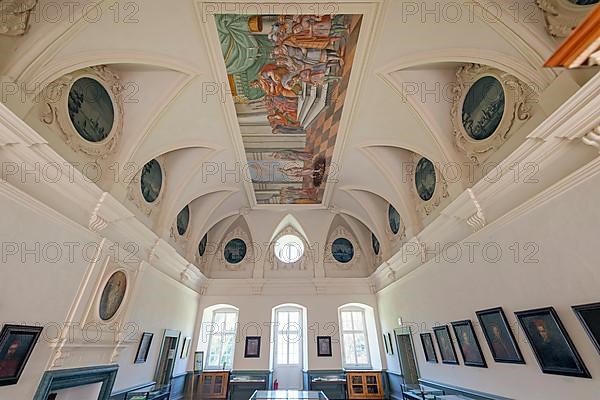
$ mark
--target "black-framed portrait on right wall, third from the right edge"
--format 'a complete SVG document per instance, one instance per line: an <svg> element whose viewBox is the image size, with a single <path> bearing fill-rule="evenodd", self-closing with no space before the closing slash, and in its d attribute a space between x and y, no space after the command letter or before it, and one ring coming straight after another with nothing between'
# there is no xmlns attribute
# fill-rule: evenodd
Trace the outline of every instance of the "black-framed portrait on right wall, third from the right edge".
<svg viewBox="0 0 600 400"><path fill-rule="evenodd" d="M525 364L521 349L519 349L502 307L477 311L476 314L494 361Z"/></svg>

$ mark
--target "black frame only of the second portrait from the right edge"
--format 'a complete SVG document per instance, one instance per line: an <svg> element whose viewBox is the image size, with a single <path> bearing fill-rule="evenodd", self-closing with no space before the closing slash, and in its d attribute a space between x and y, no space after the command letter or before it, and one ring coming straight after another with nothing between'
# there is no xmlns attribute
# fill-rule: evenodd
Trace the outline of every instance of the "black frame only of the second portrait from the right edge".
<svg viewBox="0 0 600 400"><path fill-rule="evenodd" d="M556 324L560 334L563 336L563 339L567 343L567 346L569 346L571 352L573 353L576 363L579 365L578 370L568 371L568 370L566 370L566 368L565 369L548 368L543 365L543 360L540 358L540 355L538 354L538 350L533 344L534 340L531 337L531 335L529 334L529 330L527 329L527 326L524 324L524 322L522 320L523 317L530 317L533 315L542 315L542 314L550 314L550 316L554 320L554 323ZM581 359L581 356L579 355L577 348L573 344L573 341L571 340L569 333L567 332L567 330L565 329L564 325L562 324L560 318L558 317L558 313L556 312L554 307L543 307L543 308L536 308L533 310L518 311L518 312L515 312L515 315L517 316L517 319L519 320L519 324L521 324L521 328L523 329L523 332L525 332L525 336L527 337L527 340L529 341L529 345L531 346L531 349L533 350L533 354L535 355L535 358L536 358L536 360L540 366L540 369L542 370L543 373L552 374L552 375L575 376L575 377L579 377L579 378L591 378L592 377L590 375L587 367L585 366L583 360Z"/></svg>

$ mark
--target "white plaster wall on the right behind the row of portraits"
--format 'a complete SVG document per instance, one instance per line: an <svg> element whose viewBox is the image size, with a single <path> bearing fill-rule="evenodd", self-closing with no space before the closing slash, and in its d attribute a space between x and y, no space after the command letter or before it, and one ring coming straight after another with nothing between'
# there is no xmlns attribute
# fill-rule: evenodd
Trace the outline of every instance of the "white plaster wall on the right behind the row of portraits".
<svg viewBox="0 0 600 400"><path fill-rule="evenodd" d="M462 257L450 262L457 253L449 249L446 256L422 265L378 293L382 331L397 328L399 317L403 325L411 326L422 378L514 399L598 399L600 358L571 306L600 301L598 239L593 233L600 223L599 184L596 177L507 225L491 225L466 239L477 246L472 260L462 245ZM497 262L484 259L481 249L487 243L502 249ZM533 247L525 247L528 243L539 250L533 254ZM520 249L516 259L511 250L515 244ZM496 256L490 248L488 259L492 258ZM528 263L527 259L537 262ZM460 366L425 362L420 332L462 319L476 324L475 311L496 306L504 308L526 365L495 363L478 326L475 329L488 368L464 366L462 359ZM541 372L514 312L545 306L556 308L593 379ZM396 355L387 362L390 370L399 371Z"/></svg>

